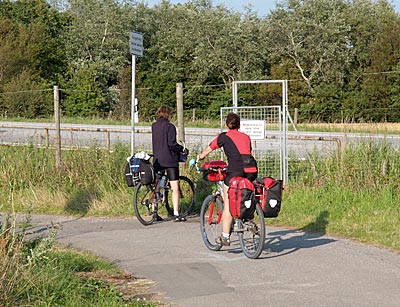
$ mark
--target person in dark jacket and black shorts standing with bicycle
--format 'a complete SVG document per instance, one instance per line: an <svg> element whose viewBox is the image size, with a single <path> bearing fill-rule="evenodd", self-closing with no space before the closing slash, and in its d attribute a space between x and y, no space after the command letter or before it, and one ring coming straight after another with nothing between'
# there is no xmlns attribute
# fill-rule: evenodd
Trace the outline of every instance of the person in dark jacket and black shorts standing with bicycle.
<svg viewBox="0 0 400 307"><path fill-rule="evenodd" d="M176 128L170 123L171 109L168 106L158 108L157 121L151 125L153 165L155 170L166 170L172 190L172 205L176 222L186 218L179 215L179 153L183 146L176 141Z"/></svg>

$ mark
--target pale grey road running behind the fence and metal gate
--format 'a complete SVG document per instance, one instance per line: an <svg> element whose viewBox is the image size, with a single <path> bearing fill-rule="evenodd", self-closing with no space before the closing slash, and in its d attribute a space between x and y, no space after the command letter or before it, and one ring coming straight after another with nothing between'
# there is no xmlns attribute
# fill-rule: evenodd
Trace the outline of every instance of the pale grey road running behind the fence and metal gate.
<svg viewBox="0 0 400 307"><path fill-rule="evenodd" d="M62 146L112 147L116 143L130 144L131 127L118 125L61 124ZM204 149L220 132L216 128L185 128L187 147L192 152ZM400 148L400 135L340 133L340 132L294 132L287 133L286 145L290 155L305 159L317 151L320 154L336 153L357 142L387 142L395 149ZM28 122L0 122L0 144L26 144L46 146L55 144L54 124ZM266 131L266 139L253 142L253 150L265 155L279 153L282 146L278 131ZM149 126L135 127L135 148L150 150Z"/></svg>

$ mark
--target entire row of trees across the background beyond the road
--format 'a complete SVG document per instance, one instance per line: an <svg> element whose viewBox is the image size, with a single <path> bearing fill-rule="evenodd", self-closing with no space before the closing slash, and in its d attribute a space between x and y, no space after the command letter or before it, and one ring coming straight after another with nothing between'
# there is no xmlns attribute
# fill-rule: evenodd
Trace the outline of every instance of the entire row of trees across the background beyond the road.
<svg viewBox="0 0 400 307"><path fill-rule="evenodd" d="M130 118L129 33L140 119L175 106L219 116L234 80L289 80L299 121L400 118L400 18L387 0L285 0L244 13L210 0L0 1L0 116L48 117L53 85L67 116ZM241 85L239 105L280 104L278 85Z"/></svg>

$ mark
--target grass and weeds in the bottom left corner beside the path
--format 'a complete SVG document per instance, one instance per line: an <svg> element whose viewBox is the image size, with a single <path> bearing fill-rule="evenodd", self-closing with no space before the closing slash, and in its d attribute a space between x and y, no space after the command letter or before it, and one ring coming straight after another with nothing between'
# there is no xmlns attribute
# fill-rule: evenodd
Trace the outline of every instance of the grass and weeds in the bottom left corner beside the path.
<svg viewBox="0 0 400 307"><path fill-rule="evenodd" d="M29 239L24 225L18 226L22 232L15 232L16 227L7 221L0 222L0 306L159 304L143 302L143 294L134 288L120 288L134 278L110 263L86 252L55 246L53 231L48 238Z"/></svg>

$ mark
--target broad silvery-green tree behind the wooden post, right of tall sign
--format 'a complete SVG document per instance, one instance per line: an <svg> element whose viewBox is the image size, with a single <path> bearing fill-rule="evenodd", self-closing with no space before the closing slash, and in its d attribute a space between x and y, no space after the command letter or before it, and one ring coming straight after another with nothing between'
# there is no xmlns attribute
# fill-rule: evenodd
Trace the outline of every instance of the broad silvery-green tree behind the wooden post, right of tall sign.
<svg viewBox="0 0 400 307"><path fill-rule="evenodd" d="M146 88L159 86L151 93L154 101L173 105L175 84L183 82L186 108L214 105L218 110L230 104L233 80L265 74L260 19L251 11L242 16L224 6L212 7L211 1L162 1L148 14L153 27L145 37L151 43L140 63L147 69L140 76Z"/></svg>

